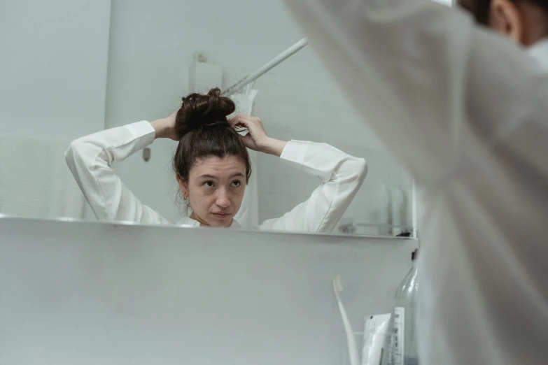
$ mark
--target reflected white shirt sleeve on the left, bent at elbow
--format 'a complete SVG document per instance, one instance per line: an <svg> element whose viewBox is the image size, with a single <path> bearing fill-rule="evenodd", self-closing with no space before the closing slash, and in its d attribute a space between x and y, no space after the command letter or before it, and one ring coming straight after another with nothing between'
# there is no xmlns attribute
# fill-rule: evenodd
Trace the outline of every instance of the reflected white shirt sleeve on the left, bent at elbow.
<svg viewBox="0 0 548 365"><path fill-rule="evenodd" d="M169 223L141 203L113 169L113 164L150 145L154 138L154 128L143 121L99 131L71 143L65 152L66 164L98 220Z"/></svg>

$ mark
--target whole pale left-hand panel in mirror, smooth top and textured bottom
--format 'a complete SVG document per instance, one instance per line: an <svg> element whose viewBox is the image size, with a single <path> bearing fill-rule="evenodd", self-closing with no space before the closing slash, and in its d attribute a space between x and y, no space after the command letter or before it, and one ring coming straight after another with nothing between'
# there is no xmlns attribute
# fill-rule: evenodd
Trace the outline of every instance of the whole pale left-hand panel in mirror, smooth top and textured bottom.
<svg viewBox="0 0 548 365"><path fill-rule="evenodd" d="M110 0L0 1L0 212L91 217L63 152L104 128Z"/></svg>

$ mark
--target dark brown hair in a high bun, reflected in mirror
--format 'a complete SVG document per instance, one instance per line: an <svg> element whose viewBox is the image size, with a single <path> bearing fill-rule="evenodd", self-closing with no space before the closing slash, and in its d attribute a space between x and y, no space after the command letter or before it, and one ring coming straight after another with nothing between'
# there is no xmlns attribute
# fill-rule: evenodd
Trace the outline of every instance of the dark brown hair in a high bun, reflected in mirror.
<svg viewBox="0 0 548 365"><path fill-rule="evenodd" d="M175 119L179 144L173 166L179 178L188 181L190 169L199 159L235 156L246 165L246 182L249 182L251 161L246 146L227 121L227 115L235 109L234 102L220 96L218 88L205 95L183 97Z"/></svg>

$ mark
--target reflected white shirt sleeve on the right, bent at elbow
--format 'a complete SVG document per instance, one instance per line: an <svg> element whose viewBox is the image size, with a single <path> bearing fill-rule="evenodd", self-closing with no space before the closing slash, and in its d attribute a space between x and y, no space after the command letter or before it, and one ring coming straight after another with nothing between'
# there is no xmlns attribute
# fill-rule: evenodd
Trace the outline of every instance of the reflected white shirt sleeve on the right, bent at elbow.
<svg viewBox="0 0 548 365"><path fill-rule="evenodd" d="M341 219L367 174L365 159L352 157L325 143L290 141L281 159L318 176L321 185L290 212L266 220L260 229L330 232Z"/></svg>

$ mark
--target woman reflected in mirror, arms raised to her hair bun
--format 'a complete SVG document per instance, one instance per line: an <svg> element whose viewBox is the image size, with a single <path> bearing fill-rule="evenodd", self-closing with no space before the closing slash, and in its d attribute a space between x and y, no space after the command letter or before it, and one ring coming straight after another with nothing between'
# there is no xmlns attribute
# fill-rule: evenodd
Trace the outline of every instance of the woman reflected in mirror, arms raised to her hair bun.
<svg viewBox="0 0 548 365"><path fill-rule="evenodd" d="M304 203L258 229L330 232L358 192L367 165L364 159L325 143L279 141L267 135L257 117L237 115L220 90L190 94L167 118L106 129L73 141L65 153L74 178L98 220L144 224L169 222L144 205L116 176L113 165L155 141L178 141L174 171L190 214L179 224L240 228L234 220L251 176L247 148L275 155L317 176L321 185ZM236 129L248 130L241 136Z"/></svg>

